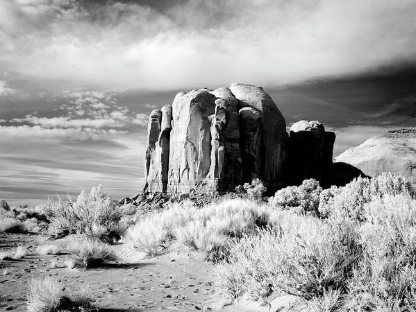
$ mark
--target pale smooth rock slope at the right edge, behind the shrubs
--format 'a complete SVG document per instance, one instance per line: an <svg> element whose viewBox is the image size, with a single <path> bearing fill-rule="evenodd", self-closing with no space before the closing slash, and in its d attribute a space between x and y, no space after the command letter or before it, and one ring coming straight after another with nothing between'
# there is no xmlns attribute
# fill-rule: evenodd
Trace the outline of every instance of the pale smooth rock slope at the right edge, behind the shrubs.
<svg viewBox="0 0 416 312"><path fill-rule="evenodd" d="M385 171L416 183L416 129L404 128L378 135L336 157L374 177Z"/></svg>

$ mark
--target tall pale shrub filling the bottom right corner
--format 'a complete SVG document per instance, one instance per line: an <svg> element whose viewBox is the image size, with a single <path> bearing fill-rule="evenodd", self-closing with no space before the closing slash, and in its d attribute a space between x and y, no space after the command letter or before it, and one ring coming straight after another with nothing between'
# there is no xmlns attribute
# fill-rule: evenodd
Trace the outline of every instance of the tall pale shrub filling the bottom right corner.
<svg viewBox="0 0 416 312"><path fill-rule="evenodd" d="M364 253L350 281L351 297L362 309L415 311L416 200L387 195L365 204L363 210Z"/></svg>

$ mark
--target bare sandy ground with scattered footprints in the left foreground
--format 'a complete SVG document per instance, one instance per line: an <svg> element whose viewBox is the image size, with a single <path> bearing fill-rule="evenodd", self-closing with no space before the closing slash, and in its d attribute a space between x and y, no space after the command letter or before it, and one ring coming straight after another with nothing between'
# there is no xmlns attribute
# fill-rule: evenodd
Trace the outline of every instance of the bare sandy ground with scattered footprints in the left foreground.
<svg viewBox="0 0 416 312"><path fill-rule="evenodd" d="M100 311L270 311L251 302L224 306L215 292L213 265L192 250L169 250L159 257L146 258L125 244L114 245L119 261L103 268L69 269L69 254L42 256L42 244L65 245L83 239L69 236L48 241L37 234L0 234L0 251L25 246L26 256L0 262L0 309L24 311L28 281L34 277L56 276L66 292L87 288ZM58 268L51 268L51 263ZM271 309L276 311L276 309ZM278 310L278 309L277 309Z"/></svg>

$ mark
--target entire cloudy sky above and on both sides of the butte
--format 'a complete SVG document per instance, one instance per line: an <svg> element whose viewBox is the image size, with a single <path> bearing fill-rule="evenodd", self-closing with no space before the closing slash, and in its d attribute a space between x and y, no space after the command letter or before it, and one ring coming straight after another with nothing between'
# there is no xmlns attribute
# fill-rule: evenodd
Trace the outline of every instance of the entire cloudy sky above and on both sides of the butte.
<svg viewBox="0 0 416 312"><path fill-rule="evenodd" d="M265 87L334 156L415 125L416 0L0 0L0 198L142 189L147 118L182 90Z"/></svg>

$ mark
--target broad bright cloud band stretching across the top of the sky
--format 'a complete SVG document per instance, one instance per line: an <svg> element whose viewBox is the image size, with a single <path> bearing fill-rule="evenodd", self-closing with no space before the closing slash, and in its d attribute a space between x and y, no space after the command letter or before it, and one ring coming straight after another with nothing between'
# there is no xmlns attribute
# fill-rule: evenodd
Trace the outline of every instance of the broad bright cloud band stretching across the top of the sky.
<svg viewBox="0 0 416 312"><path fill-rule="evenodd" d="M0 0L1 67L74 85L168 89L290 83L416 55L415 0L140 3Z"/></svg>

